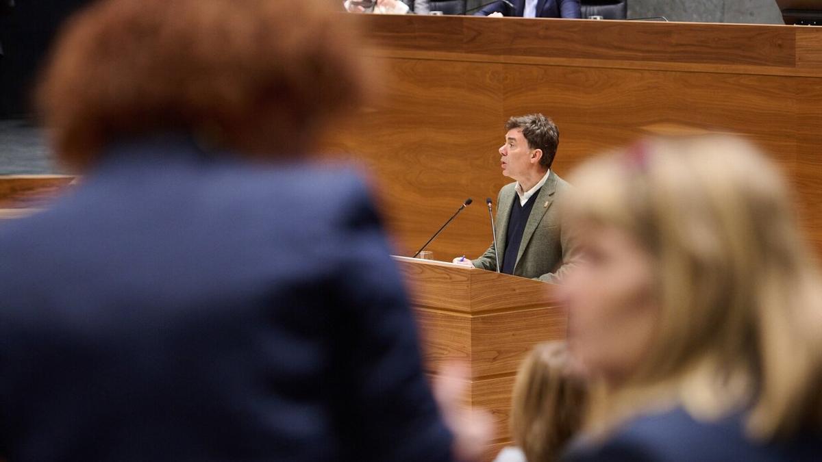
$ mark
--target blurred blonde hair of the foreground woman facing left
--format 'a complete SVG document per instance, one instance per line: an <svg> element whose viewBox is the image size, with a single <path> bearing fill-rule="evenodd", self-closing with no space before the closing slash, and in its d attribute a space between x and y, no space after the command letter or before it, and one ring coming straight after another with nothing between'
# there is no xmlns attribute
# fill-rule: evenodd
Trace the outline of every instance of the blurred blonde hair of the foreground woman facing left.
<svg viewBox="0 0 822 462"><path fill-rule="evenodd" d="M596 400L595 420L667 400L697 418L746 409L750 436L764 440L820 427L822 286L783 178L755 146L645 141L589 161L572 182L568 218L626 231L658 275L651 344Z"/></svg>

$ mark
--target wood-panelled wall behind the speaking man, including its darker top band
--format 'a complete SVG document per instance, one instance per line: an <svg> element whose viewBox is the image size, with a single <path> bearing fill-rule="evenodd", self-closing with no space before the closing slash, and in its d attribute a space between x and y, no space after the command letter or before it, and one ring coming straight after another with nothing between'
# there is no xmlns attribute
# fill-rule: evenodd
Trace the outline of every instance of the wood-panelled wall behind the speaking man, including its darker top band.
<svg viewBox="0 0 822 462"><path fill-rule="evenodd" d="M822 249L822 30L781 25L360 16L385 97L326 142L372 173L399 252L447 260L491 242L486 197L510 180L498 146L512 115L542 112L561 133L555 170L641 136L737 132L797 187Z"/></svg>

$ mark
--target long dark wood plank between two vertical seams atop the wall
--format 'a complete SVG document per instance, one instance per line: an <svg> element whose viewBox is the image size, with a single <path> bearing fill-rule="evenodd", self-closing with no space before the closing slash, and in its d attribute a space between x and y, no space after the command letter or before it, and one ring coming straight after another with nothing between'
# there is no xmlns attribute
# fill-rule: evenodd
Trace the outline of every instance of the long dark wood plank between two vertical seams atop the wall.
<svg viewBox="0 0 822 462"><path fill-rule="evenodd" d="M795 60L792 30L755 25L691 24L680 34L662 22L468 18L463 28L472 53L778 67ZM735 48L741 41L750 47Z"/></svg>

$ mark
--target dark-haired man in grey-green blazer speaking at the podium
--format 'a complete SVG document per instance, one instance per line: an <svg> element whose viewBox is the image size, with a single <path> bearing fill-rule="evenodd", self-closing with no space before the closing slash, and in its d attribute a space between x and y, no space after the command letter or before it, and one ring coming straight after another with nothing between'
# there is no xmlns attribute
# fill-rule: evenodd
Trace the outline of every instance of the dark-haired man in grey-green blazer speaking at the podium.
<svg viewBox="0 0 822 462"><path fill-rule="evenodd" d="M562 201L570 188L551 170L559 131L543 114L512 117L506 122L506 131L506 144L500 147L502 174L516 181L502 187L496 198L500 271L559 282L575 257L555 203ZM476 260L458 257L454 262L496 271L496 243Z"/></svg>

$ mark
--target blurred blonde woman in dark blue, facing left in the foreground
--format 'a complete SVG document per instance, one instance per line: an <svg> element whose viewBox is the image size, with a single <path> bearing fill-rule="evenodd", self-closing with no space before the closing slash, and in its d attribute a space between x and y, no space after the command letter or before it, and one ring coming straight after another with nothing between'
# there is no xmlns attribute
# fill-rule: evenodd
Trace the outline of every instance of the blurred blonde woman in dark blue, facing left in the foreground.
<svg viewBox="0 0 822 462"><path fill-rule="evenodd" d="M595 399L563 460L819 460L822 280L774 164L703 136L572 181L561 292Z"/></svg>

